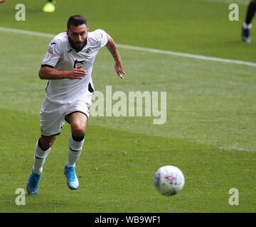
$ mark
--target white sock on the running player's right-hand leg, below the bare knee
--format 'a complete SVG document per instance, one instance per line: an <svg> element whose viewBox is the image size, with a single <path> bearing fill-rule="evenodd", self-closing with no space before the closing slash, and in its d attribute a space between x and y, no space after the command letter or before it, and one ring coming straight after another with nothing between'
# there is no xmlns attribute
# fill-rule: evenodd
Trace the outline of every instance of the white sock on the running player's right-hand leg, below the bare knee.
<svg viewBox="0 0 256 227"><path fill-rule="evenodd" d="M75 162L78 162L82 151L82 145L85 142L85 138L82 141L73 140L72 135L68 140L68 160L65 164L66 167L75 167Z"/></svg>

